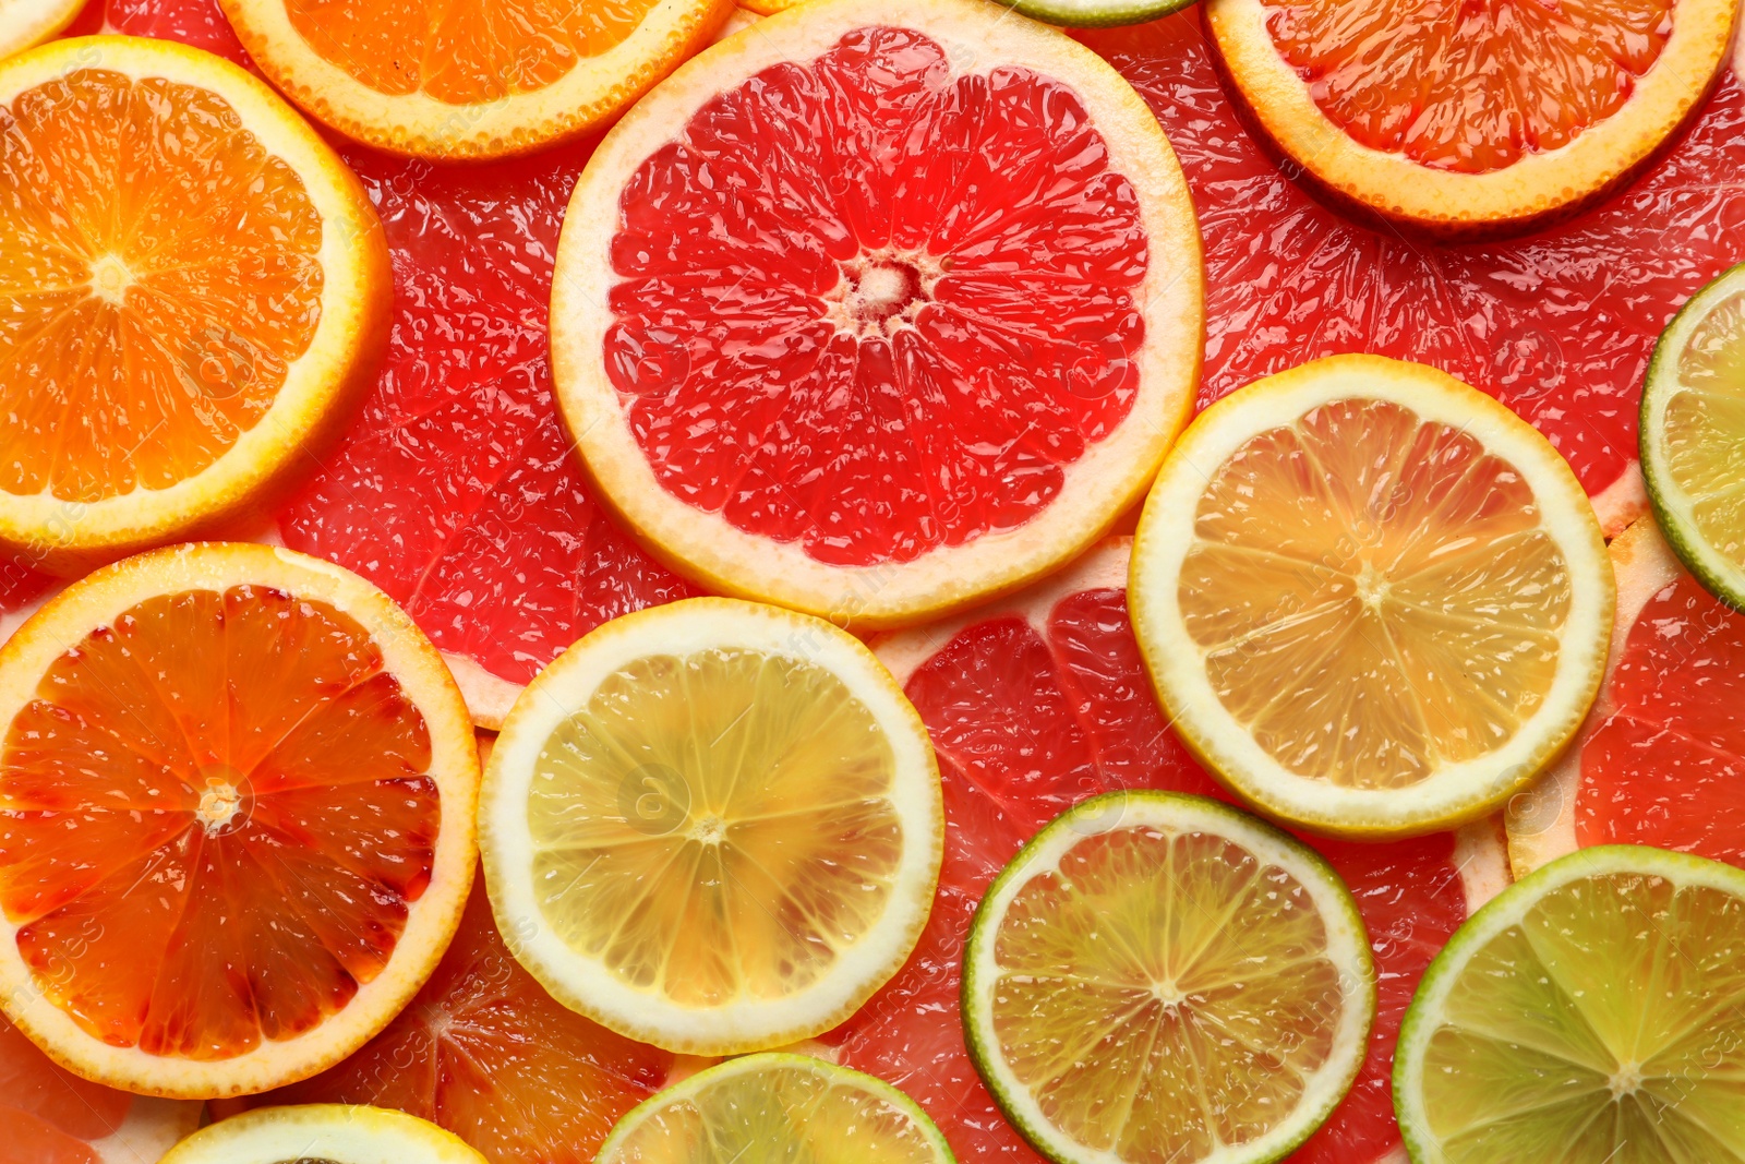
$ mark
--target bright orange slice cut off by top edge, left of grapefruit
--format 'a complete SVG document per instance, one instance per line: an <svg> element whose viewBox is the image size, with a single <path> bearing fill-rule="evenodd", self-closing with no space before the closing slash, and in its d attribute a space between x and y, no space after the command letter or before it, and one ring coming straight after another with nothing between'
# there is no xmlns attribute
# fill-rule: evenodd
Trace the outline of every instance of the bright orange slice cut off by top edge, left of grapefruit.
<svg viewBox="0 0 1745 1164"><path fill-rule="evenodd" d="M220 3L311 117L436 159L527 154L604 126L733 10L733 0Z"/></svg>

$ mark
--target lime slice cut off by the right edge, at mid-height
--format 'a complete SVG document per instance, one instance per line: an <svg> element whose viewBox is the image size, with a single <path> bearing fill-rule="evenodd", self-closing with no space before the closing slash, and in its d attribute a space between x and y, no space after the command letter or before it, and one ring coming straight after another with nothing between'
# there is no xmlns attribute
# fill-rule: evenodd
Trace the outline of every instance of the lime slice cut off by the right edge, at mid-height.
<svg viewBox="0 0 1745 1164"><path fill-rule="evenodd" d="M1639 440L1673 553L1745 611L1745 264L1693 295L1659 333Z"/></svg>

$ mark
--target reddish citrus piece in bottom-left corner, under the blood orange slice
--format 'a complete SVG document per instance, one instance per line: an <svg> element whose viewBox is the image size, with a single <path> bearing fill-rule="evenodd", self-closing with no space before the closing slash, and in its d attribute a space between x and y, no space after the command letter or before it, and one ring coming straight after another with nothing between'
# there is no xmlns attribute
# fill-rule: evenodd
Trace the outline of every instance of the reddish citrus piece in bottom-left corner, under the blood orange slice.
<svg viewBox="0 0 1745 1164"><path fill-rule="evenodd" d="M0 1016L0 1164L154 1164L201 1105L87 1082Z"/></svg>

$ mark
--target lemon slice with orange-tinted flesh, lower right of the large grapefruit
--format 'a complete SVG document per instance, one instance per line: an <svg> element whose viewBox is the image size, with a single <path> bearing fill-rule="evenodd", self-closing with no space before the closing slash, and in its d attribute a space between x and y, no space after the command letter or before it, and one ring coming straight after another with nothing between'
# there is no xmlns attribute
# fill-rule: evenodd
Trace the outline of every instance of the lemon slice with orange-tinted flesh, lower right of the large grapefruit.
<svg viewBox="0 0 1745 1164"><path fill-rule="evenodd" d="M1482 817L1557 757L1612 578L1539 433L1434 368L1333 356L1195 419L1145 503L1131 600L1208 768L1375 838Z"/></svg>

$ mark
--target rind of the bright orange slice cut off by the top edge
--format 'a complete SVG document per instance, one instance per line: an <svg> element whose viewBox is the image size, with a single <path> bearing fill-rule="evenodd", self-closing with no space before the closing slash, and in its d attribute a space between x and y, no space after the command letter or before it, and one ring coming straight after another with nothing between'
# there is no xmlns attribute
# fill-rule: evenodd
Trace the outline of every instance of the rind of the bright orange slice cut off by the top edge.
<svg viewBox="0 0 1745 1164"><path fill-rule="evenodd" d="M733 0L661 0L625 40L579 59L560 80L473 105L370 89L309 47L284 0L220 0L220 7L250 58L321 124L387 154L483 161L599 129L708 44Z"/></svg>

